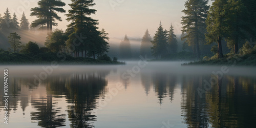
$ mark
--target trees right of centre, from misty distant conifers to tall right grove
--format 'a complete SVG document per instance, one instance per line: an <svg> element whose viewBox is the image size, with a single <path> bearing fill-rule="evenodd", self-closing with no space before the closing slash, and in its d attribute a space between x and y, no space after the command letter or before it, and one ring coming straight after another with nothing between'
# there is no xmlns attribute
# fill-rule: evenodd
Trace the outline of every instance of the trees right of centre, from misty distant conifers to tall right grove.
<svg viewBox="0 0 256 128"><path fill-rule="evenodd" d="M223 58L225 53L236 55L240 51L240 54L248 54L248 51L256 50L253 44L256 37L256 1L216 0L209 6L208 0L187 0L184 6L182 12L185 16L181 17L183 50L191 49L195 58L209 52L215 54L213 58ZM167 31L160 23L153 39L148 35L146 31L141 55L152 55L156 59L177 56L177 37L173 26ZM124 45L129 44L126 38L121 42L120 54L127 56L129 52L124 48L130 47Z"/></svg>

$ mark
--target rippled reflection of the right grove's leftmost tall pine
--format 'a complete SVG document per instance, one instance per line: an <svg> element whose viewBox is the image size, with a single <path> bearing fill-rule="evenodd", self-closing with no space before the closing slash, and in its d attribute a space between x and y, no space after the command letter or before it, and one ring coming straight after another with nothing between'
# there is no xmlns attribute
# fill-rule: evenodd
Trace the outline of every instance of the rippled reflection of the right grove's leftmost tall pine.
<svg viewBox="0 0 256 128"><path fill-rule="evenodd" d="M183 77L183 97L181 102L182 116L187 127L208 127L208 115L205 98L201 98L197 92L202 88L202 77L193 76L186 80Z"/></svg>

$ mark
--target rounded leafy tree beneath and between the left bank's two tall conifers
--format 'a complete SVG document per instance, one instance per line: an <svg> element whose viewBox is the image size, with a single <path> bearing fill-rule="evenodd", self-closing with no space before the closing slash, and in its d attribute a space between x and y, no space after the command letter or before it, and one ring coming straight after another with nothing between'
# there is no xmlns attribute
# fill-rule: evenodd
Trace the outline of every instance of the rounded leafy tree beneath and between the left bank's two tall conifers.
<svg viewBox="0 0 256 128"><path fill-rule="evenodd" d="M56 29L54 32L48 33L45 46L54 53L65 52L67 39L68 36L62 30Z"/></svg>

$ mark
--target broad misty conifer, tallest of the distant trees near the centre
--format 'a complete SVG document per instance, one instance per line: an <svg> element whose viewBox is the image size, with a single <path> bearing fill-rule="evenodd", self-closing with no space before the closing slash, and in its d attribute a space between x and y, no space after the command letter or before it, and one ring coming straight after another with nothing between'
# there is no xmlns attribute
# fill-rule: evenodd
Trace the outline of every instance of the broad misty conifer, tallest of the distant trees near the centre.
<svg viewBox="0 0 256 128"><path fill-rule="evenodd" d="M167 31L163 30L161 22L151 42L153 44L152 56L158 59L167 55Z"/></svg>

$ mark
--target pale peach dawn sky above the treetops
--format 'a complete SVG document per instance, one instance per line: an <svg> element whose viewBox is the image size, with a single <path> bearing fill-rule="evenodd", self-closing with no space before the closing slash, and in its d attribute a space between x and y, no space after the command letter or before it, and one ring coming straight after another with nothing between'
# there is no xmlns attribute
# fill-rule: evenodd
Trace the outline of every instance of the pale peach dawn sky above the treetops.
<svg viewBox="0 0 256 128"><path fill-rule="evenodd" d="M37 7L39 0L1 0L0 14L8 8L11 15L15 12L20 20L23 11L31 23L36 19L35 16L29 16L31 8ZM70 9L70 0L62 0L66 3L64 9L66 13ZM181 34L181 12L185 0L94 0L96 5L94 19L99 20L99 29L105 29L110 38L123 38L125 34L131 38L141 38L146 29L154 36L160 21L164 29L169 29L172 24L176 34ZM209 2L210 4L211 2ZM54 28L66 30L69 24L65 13L59 13L62 22L57 22L58 26Z"/></svg>

